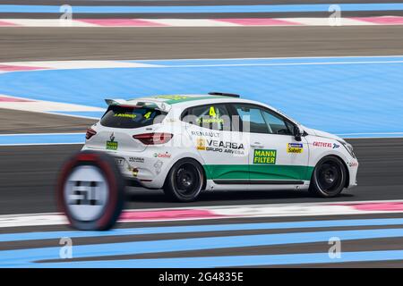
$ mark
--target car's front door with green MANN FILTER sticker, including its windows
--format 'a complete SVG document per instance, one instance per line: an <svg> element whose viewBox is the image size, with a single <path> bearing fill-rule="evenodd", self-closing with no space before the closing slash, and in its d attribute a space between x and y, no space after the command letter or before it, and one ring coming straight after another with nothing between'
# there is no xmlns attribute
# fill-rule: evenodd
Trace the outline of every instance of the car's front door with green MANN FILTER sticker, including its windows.
<svg viewBox="0 0 403 286"><path fill-rule="evenodd" d="M250 133L249 178L251 184L301 184L307 177L309 148L296 141L294 124L258 105L236 104L243 131ZM249 125L249 130L248 130Z"/></svg>

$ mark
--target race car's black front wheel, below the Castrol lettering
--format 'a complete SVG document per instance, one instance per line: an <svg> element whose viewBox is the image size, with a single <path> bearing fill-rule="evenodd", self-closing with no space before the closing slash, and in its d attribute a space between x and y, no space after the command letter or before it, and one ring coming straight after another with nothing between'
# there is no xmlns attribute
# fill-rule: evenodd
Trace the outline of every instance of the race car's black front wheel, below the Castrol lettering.
<svg viewBox="0 0 403 286"><path fill-rule="evenodd" d="M346 186L347 170L336 156L326 156L316 164L309 191L322 198L339 196Z"/></svg>

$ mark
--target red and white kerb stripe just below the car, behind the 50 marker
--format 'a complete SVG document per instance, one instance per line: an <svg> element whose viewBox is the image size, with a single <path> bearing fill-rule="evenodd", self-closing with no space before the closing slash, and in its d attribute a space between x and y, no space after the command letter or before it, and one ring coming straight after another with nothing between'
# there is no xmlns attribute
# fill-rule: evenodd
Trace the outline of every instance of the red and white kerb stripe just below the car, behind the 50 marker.
<svg viewBox="0 0 403 286"><path fill-rule="evenodd" d="M377 207L379 206L379 207ZM397 206L393 209L393 206ZM383 209L382 209L383 207ZM361 208L361 209L360 209ZM207 210L213 216L172 217L172 212L180 210ZM164 217L164 211L170 215ZM149 208L138 210L125 210L133 218L124 218L121 223L132 222L171 222L210 219L231 219L247 217L290 217L290 216L315 216L315 215L341 215L341 214L397 214L403 213L403 200L378 200L378 201L344 201L327 203L296 203L296 204L272 204L272 205L237 205L237 206L189 206L173 208ZM136 216L136 213L139 215ZM143 214L153 214L143 216ZM217 216L214 216L217 215ZM62 225L67 224L64 215L57 213L42 214L3 214L0 215L0 228Z"/></svg>

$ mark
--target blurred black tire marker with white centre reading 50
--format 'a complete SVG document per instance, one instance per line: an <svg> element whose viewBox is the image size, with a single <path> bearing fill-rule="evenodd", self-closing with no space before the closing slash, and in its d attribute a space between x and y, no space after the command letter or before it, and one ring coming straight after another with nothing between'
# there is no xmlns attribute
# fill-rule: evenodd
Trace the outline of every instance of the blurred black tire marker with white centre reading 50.
<svg viewBox="0 0 403 286"><path fill-rule="evenodd" d="M87 176L89 172L95 176ZM83 180L74 180L74 176ZM99 180L92 181L89 177ZM73 228L106 231L122 213L124 187L124 177L113 156L83 151L64 164L57 181L56 198L60 211Z"/></svg>

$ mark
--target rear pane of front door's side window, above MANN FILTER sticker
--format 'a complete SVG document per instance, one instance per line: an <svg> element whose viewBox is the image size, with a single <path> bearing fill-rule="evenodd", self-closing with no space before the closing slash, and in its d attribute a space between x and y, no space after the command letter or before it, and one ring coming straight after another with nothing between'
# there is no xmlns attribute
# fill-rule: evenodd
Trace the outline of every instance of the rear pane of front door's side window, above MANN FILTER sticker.
<svg viewBox="0 0 403 286"><path fill-rule="evenodd" d="M265 122L262 111L253 105L234 105L237 114L242 119L244 132L270 134L268 124Z"/></svg>

